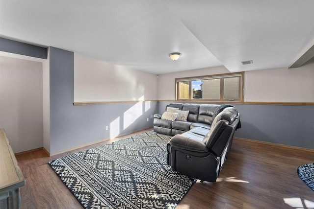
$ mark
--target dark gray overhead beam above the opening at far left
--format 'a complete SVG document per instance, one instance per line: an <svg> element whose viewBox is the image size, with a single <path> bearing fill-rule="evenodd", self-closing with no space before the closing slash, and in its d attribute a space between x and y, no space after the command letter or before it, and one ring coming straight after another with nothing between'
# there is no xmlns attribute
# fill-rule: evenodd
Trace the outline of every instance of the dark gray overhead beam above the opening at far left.
<svg viewBox="0 0 314 209"><path fill-rule="evenodd" d="M0 37L0 51L47 59L47 48Z"/></svg>

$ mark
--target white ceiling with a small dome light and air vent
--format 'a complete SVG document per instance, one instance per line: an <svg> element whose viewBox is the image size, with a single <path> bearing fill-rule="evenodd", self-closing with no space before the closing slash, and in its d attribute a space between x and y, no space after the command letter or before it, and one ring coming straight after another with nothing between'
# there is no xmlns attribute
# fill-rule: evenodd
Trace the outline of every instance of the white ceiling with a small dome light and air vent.
<svg viewBox="0 0 314 209"><path fill-rule="evenodd" d="M314 45L314 0L0 0L0 36L154 74L280 68Z"/></svg>

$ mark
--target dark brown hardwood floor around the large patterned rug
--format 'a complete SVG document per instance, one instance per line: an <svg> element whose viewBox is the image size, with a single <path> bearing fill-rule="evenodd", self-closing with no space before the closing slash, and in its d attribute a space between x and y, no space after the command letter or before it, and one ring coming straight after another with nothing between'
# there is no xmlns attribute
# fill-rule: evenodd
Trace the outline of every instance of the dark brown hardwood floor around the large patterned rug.
<svg viewBox="0 0 314 209"><path fill-rule="evenodd" d="M82 208L47 162L126 137L52 157L43 150L16 156L26 178L21 209ZM313 162L314 151L234 139L218 181L195 183L177 209L313 209L314 191L296 172Z"/></svg>

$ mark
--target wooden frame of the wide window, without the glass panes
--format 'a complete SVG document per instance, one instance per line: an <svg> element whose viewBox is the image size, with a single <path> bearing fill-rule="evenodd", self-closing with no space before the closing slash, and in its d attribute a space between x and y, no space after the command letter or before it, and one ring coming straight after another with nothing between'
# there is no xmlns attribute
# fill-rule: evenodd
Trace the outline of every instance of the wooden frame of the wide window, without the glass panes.
<svg viewBox="0 0 314 209"><path fill-rule="evenodd" d="M239 81L239 99L229 100L223 99L224 96L224 78L236 77L236 75L240 76L241 79ZM206 80L206 79L220 79L220 98L219 99L193 99L192 92L192 81L194 80ZM188 81L189 82L189 98L188 99L180 99L178 90L179 83ZM203 93L204 95L204 93ZM231 72L231 73L223 73L223 74L213 74L213 75L203 75L203 76L193 76L193 77L183 77L183 78L175 78L175 100L176 101L213 101L213 102L243 102L244 101L244 72Z"/></svg>

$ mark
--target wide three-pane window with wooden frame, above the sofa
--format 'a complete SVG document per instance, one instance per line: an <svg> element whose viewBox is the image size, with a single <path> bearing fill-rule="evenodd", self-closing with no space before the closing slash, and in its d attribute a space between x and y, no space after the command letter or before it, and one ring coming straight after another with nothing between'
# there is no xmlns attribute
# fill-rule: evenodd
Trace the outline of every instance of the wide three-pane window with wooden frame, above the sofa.
<svg viewBox="0 0 314 209"><path fill-rule="evenodd" d="M176 78L177 100L243 101L243 72Z"/></svg>

